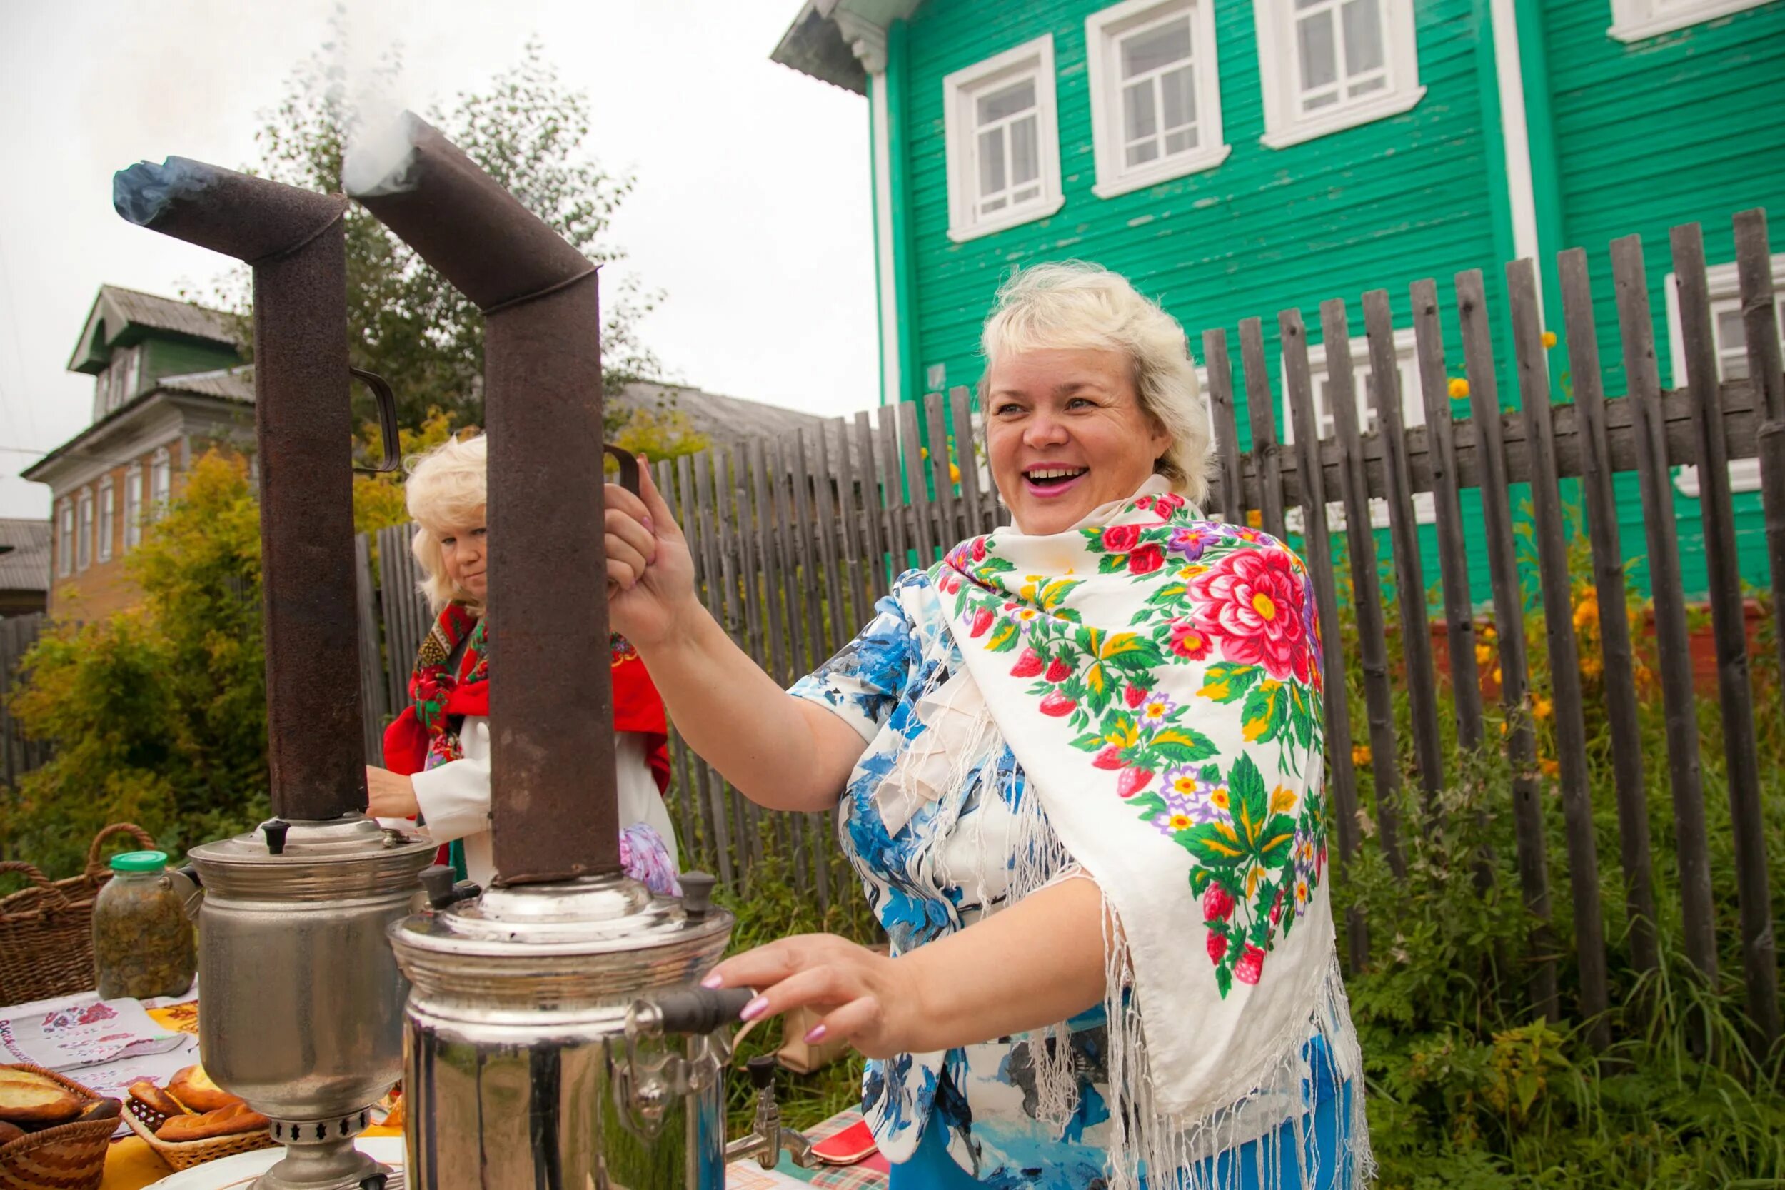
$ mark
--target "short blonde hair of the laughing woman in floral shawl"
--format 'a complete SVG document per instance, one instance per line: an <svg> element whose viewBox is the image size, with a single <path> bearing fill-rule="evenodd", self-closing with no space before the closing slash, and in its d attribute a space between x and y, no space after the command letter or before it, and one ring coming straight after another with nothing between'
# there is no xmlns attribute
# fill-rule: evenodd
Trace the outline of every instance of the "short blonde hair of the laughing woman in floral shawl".
<svg viewBox="0 0 1785 1190"><path fill-rule="evenodd" d="M1141 409L1171 435L1171 446L1153 469L1185 500L1203 503L1214 442L1208 403L1196 384L1196 362L1178 319L1101 264L1060 260L1012 273L998 287L980 335L987 378L1003 355L1073 348L1128 357ZM980 380L982 405L987 378Z"/></svg>

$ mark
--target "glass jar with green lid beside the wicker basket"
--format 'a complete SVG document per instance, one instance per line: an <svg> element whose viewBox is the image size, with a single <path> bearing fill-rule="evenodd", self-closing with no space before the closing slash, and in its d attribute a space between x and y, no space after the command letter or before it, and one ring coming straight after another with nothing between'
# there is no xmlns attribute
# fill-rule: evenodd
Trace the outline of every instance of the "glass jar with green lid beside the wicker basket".
<svg viewBox="0 0 1785 1190"><path fill-rule="evenodd" d="M100 999L182 996L198 946L166 851L125 851L93 901L93 974Z"/></svg>

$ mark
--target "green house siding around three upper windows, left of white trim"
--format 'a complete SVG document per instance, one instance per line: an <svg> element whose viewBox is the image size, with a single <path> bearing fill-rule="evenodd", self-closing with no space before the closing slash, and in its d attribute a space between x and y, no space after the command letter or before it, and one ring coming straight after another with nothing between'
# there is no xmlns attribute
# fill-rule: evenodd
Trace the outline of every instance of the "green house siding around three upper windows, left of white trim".
<svg viewBox="0 0 1785 1190"><path fill-rule="evenodd" d="M1237 323L1266 316L1266 357L1280 380L1274 310L1301 303L1319 326L1317 302L1333 293L1391 289L1396 326L1412 326L1408 277L1449 280L1458 269L1508 255L1510 228L1496 228L1498 128L1485 121L1492 102L1492 57L1482 54L1471 0L1433 0L1417 7L1421 102L1391 116L1289 148L1266 148L1264 95L1250 4L1216 5L1221 71L1221 121L1232 155L1214 169L1192 173L1116 198L1098 198L1091 137L1091 93L1085 68L1085 18L1103 0L996 4L932 0L905 32L907 139L910 193L905 227L916 268L916 294L903 305L917 339L917 371L905 378L907 400L935 364L948 384L980 376L978 332L998 282L1016 266L1085 259L1130 277L1158 298L1192 335L1225 326L1230 355L1239 360ZM1485 7L1485 5L1480 5ZM942 121L942 77L992 54L1053 34L1059 93L1060 175L1066 205L1046 219L966 243L948 237L948 175ZM1483 87L1483 71L1487 86ZM1492 146L1492 148L1490 148ZM898 202L900 196L894 196ZM1489 294L1499 302L1503 278L1489 271ZM1449 294L1449 285L1440 285ZM1448 341L1458 343L1455 305L1444 298ZM1362 303L1353 302L1351 334L1364 335ZM1319 355L1316 353L1316 359ZM1274 385L1282 393L1282 385ZM1510 385L1503 385L1510 391ZM1241 446L1251 446L1244 393L1235 394ZM1458 401L1460 416L1467 401ZM1282 407L1273 410L1278 434ZM1471 533L1480 533L1480 508L1465 508ZM1424 550L1435 551L1430 525L1419 526ZM1382 557L1387 557L1383 548ZM1485 566L1473 574L1474 596L1492 594Z"/></svg>

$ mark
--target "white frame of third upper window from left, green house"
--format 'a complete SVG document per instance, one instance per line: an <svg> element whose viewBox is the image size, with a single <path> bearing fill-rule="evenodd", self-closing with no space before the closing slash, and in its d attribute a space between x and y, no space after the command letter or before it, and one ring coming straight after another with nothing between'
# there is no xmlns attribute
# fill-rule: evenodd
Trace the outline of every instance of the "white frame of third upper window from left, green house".
<svg viewBox="0 0 1785 1190"><path fill-rule="evenodd" d="M1419 86L1419 43L1414 0L1374 0L1382 5L1383 68L1387 84L1362 98L1314 112L1301 111L1301 55L1296 39L1296 0L1251 0L1258 29L1258 80L1264 86L1266 148L1287 148L1317 136L1399 116L1424 96ZM1342 54L1342 32L1335 30Z"/></svg>

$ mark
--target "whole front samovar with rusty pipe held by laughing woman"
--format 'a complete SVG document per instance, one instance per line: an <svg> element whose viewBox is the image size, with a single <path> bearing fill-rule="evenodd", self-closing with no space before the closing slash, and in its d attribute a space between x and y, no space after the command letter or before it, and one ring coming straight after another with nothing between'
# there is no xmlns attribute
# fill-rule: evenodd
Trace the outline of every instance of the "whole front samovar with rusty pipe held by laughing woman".
<svg viewBox="0 0 1785 1190"><path fill-rule="evenodd" d="M407 1176L721 1190L728 1028L750 992L691 985L732 919L710 876L684 874L677 901L619 864L596 269L421 120L398 141L393 159L350 153L348 191L486 316L496 869L487 890L430 871L430 910L391 928L412 985ZM803 1153L762 1104L734 1154Z"/></svg>

